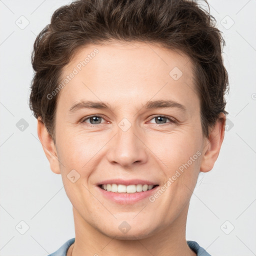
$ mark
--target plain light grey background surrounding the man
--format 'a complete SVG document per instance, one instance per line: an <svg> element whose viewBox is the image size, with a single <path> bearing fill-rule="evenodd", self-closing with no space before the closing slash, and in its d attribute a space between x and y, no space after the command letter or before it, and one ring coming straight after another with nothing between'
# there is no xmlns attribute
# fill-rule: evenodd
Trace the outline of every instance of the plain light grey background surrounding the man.
<svg viewBox="0 0 256 256"><path fill-rule="evenodd" d="M32 44L69 2L0 0L0 256L47 255L74 237L72 205L28 107ZM256 0L209 4L226 41L228 126L213 169L198 178L186 239L212 255L256 255Z"/></svg>

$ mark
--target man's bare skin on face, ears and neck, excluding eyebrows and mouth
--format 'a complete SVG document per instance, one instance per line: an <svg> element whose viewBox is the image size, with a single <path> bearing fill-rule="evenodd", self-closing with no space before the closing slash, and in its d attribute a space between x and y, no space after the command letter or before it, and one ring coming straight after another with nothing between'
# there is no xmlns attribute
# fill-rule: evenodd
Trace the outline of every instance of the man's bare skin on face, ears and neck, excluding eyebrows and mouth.
<svg viewBox="0 0 256 256"><path fill-rule="evenodd" d="M99 50L95 57L59 92L56 144L39 119L37 126L50 168L61 174L73 205L75 242L67 255L72 250L72 256L194 256L185 239L189 199L199 171L211 170L218 157L225 115L220 114L209 137L204 137L192 62L181 52L153 44L87 45L65 66L63 77L95 48ZM178 80L169 75L174 67L183 73ZM186 111L143 108L149 100L159 99L174 100ZM79 100L104 101L110 109L69 113ZM89 118L81 122L97 114L104 117L98 119L99 124ZM161 115L177 122L155 118ZM123 118L131 124L127 131L118 126ZM118 204L96 187L97 182L111 178L146 178L161 186L198 150L201 155L154 202L146 198ZM74 183L67 178L72 169L80 174ZM131 227L126 233L118 228L123 221Z"/></svg>

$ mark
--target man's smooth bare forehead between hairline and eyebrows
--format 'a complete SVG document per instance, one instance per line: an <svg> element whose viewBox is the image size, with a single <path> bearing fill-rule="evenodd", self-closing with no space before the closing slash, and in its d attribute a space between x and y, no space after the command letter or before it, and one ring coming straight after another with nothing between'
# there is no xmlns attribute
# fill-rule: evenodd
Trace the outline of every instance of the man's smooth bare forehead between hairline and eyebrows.
<svg viewBox="0 0 256 256"><path fill-rule="evenodd" d="M195 100L192 62L180 51L144 43L111 42L81 47L62 69L60 100L82 98L127 103L166 98Z"/></svg>

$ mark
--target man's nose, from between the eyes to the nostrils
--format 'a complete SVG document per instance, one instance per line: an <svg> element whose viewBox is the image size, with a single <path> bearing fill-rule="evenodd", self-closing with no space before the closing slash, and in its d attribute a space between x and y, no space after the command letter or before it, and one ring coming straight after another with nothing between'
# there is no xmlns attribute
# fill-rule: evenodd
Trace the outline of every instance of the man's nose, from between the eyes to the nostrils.
<svg viewBox="0 0 256 256"><path fill-rule="evenodd" d="M126 131L117 126L115 136L108 143L108 161L112 164L120 164L122 167L145 163L148 155L147 146L143 140L143 134L135 124Z"/></svg>

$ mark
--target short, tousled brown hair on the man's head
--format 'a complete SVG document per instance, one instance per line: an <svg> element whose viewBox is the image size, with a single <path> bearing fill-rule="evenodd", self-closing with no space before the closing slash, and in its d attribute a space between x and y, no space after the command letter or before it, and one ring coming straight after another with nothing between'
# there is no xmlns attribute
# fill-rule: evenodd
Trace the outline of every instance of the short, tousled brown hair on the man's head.
<svg viewBox="0 0 256 256"><path fill-rule="evenodd" d="M111 40L156 43L192 59L202 131L208 137L219 113L227 114L224 94L229 89L221 56L225 42L215 22L192 0L76 0L61 6L33 45L30 109L55 143L58 94L52 99L47 95L57 87L63 66L78 48Z"/></svg>

